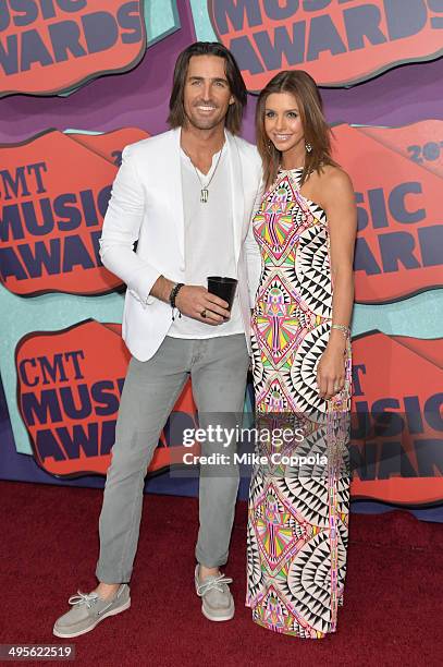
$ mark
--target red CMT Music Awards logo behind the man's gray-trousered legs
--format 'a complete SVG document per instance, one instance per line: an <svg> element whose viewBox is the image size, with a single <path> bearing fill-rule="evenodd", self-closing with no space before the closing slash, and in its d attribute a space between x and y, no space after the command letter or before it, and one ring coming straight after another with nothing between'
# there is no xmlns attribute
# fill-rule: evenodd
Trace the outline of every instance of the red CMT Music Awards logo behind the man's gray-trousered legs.
<svg viewBox="0 0 443 667"><path fill-rule="evenodd" d="M37 463L59 476L106 474L130 353L121 326L86 320L35 332L15 351L17 402ZM186 385L161 434L149 470L182 463L183 432L196 428Z"/></svg>

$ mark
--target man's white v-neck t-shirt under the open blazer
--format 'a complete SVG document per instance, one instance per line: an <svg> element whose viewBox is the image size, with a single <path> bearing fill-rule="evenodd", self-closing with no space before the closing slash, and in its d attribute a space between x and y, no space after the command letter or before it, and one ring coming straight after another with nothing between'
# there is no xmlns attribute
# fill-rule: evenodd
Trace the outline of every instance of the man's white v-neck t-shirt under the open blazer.
<svg viewBox="0 0 443 667"><path fill-rule="evenodd" d="M220 153L217 153L212 157L212 165L207 174L197 170L197 175L188 156L183 150L181 151L186 284L202 284L207 288L208 276L237 278L226 143L222 148L218 163L219 156ZM211 177L212 180L210 181ZM208 201L201 203L201 187L209 181ZM168 331L168 336L173 338L214 338L216 336L244 332L245 327L237 291L229 322L212 326L186 317L186 315L182 315L182 317L177 315Z"/></svg>

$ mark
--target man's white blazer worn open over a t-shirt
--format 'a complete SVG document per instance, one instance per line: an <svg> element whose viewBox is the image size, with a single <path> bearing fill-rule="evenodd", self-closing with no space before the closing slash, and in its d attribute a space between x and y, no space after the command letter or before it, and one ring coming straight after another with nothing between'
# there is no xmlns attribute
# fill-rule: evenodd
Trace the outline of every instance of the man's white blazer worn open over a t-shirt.
<svg viewBox="0 0 443 667"><path fill-rule="evenodd" d="M103 265L127 284L123 339L140 361L156 353L172 323L171 306L149 294L153 283L159 276L186 282L180 136L180 129L171 130L126 146L100 240ZM231 170L226 197L232 198L238 296L249 344L261 268L251 232L261 160L255 146L229 132L225 136Z"/></svg>

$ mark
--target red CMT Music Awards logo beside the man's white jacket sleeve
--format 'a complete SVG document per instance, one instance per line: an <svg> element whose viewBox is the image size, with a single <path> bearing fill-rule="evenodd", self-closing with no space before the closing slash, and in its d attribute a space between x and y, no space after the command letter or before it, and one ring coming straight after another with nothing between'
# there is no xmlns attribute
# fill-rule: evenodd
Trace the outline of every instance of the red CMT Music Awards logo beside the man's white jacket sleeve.
<svg viewBox="0 0 443 667"><path fill-rule="evenodd" d="M131 128L88 137L50 131L0 147L0 280L5 288L23 296L122 288L101 264L99 239L122 149L143 136Z"/></svg>

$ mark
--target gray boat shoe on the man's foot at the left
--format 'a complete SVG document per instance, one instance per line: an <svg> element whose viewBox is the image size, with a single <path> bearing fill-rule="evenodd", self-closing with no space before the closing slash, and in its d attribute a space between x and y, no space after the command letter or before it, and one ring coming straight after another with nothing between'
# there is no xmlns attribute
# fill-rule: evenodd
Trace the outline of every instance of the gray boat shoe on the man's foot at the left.
<svg viewBox="0 0 443 667"><path fill-rule="evenodd" d="M108 616L115 616L131 607L130 586L121 584L112 599L101 599L97 593L81 593L69 599L72 609L57 619L56 636L71 638L85 634Z"/></svg>

